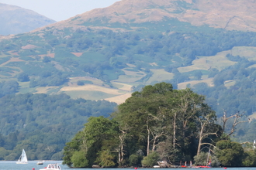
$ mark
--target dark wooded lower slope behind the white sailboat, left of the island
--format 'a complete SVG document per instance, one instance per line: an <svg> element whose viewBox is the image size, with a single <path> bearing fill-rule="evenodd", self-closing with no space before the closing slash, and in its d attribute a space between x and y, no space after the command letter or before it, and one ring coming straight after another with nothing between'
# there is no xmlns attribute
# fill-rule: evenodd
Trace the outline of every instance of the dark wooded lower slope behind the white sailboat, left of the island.
<svg viewBox="0 0 256 170"><path fill-rule="evenodd" d="M108 117L116 107L106 100L73 100L66 94L18 94L0 98L0 160L61 160L63 148L88 117Z"/></svg>

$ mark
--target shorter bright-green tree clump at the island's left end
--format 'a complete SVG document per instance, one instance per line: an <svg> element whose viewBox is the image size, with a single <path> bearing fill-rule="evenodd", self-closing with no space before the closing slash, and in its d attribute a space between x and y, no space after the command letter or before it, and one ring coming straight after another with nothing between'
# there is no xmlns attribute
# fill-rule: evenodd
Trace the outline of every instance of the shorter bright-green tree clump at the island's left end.
<svg viewBox="0 0 256 170"><path fill-rule="evenodd" d="M83 151L85 154L80 155L84 157L81 160L83 162L88 160L88 164L85 167L92 167L94 162L99 162L106 167L116 165L116 163L112 164L112 160L115 157L112 157L109 151L118 153L118 140L116 140L118 135L119 128L116 121L109 120L105 117L89 117L84 130L79 132L64 148L63 164L71 166L74 164L71 160L74 151ZM105 156L107 159L104 159ZM79 168L82 167L84 166L79 166Z"/></svg>

